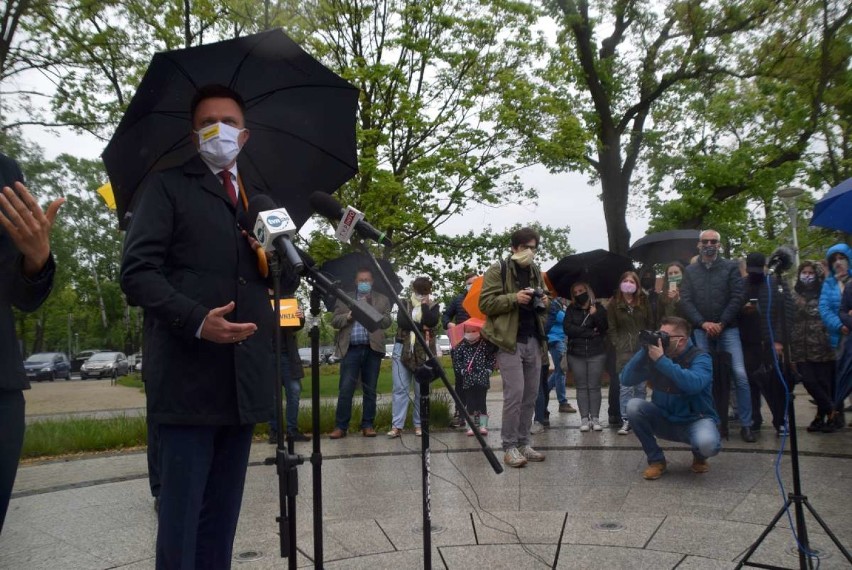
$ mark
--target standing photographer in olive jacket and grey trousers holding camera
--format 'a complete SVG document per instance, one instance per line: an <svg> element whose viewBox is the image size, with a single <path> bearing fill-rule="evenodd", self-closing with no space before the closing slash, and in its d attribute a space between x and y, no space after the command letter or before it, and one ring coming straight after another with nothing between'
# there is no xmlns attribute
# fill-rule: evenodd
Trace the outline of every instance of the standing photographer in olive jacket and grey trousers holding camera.
<svg viewBox="0 0 852 570"><path fill-rule="evenodd" d="M512 255L485 272L479 309L482 337L496 345L503 379L503 462L523 467L544 461L530 445L530 423L538 395L541 362L547 358L547 298L541 270L533 263L539 235L532 228L512 233Z"/></svg>

